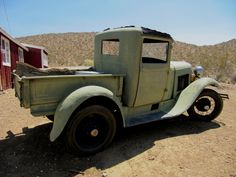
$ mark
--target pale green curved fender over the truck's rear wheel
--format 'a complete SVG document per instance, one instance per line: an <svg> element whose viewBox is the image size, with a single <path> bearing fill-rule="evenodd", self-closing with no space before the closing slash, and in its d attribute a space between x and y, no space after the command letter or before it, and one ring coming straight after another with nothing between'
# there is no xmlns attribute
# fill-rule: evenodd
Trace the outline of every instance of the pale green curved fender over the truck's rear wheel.
<svg viewBox="0 0 236 177"><path fill-rule="evenodd" d="M50 141L55 141L61 134L66 126L72 113L78 108L84 101L95 96L105 96L113 100L119 108L121 104L119 99L113 94L112 91L100 87L100 86L86 86L75 90L69 94L62 102L57 106L53 128L50 132ZM120 109L121 110L121 109Z"/></svg>

